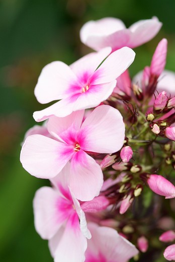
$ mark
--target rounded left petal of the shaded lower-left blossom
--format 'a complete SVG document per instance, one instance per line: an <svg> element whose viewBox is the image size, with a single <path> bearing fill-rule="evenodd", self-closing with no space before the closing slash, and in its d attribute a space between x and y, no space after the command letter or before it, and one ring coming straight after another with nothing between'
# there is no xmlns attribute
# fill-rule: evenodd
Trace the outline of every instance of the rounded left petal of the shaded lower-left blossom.
<svg viewBox="0 0 175 262"><path fill-rule="evenodd" d="M36 231L44 239L52 238L67 218L58 210L59 200L59 192L51 187L44 186L36 191L33 201L34 223Z"/></svg>

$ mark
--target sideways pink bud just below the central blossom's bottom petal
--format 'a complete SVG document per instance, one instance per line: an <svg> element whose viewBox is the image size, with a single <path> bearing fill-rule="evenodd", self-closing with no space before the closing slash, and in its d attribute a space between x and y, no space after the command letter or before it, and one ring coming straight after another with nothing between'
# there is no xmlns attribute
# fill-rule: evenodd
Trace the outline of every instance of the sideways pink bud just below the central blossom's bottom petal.
<svg viewBox="0 0 175 262"><path fill-rule="evenodd" d="M104 195L99 195L92 201L83 202L81 204L81 209L84 212L98 212L105 210L109 206L110 202Z"/></svg>

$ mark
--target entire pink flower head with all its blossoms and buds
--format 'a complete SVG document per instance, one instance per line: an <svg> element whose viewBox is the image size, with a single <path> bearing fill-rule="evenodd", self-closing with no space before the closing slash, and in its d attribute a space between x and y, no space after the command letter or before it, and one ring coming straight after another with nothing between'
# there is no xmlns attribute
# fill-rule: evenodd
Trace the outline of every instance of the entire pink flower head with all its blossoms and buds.
<svg viewBox="0 0 175 262"><path fill-rule="evenodd" d="M26 133L21 162L51 182L35 194L34 217L55 262L127 262L143 256L139 250L160 255L154 242L175 240L171 229L156 232L161 196L175 198L175 74L164 71L167 40L150 67L133 80L128 71L131 48L160 28L155 17L128 29L115 18L90 21L80 38L96 52L41 72L37 100L58 101L34 112L46 121ZM164 257L175 260L174 244Z"/></svg>

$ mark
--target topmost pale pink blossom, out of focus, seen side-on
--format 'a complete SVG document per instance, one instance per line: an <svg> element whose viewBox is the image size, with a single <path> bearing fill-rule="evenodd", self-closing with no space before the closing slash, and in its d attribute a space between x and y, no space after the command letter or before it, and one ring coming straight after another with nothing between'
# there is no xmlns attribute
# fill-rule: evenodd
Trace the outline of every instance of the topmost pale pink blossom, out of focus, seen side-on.
<svg viewBox="0 0 175 262"><path fill-rule="evenodd" d="M161 25L162 23L153 17L140 20L127 29L120 19L107 17L85 23L80 30L80 39L95 50L106 46L111 46L113 51L123 46L134 48L151 40Z"/></svg>

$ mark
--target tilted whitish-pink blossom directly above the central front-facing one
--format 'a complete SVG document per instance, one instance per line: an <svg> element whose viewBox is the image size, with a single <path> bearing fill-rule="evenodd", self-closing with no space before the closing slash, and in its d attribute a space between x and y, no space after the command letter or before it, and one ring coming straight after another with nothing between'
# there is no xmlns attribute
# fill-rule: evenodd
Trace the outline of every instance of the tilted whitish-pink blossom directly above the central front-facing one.
<svg viewBox="0 0 175 262"><path fill-rule="evenodd" d="M64 117L73 111L96 107L106 100L116 86L116 78L135 57L134 51L128 47L109 55L110 52L109 47L98 53L90 53L70 67L61 61L46 65L38 79L35 96L42 104L60 101L34 112L35 120L42 121L52 115Z"/></svg>

